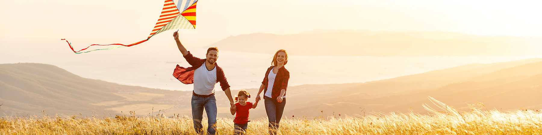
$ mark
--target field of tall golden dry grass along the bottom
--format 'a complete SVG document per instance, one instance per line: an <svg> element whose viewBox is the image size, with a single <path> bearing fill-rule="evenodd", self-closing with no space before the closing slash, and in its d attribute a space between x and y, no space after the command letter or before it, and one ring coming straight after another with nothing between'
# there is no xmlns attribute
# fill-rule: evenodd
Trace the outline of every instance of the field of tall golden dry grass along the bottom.
<svg viewBox="0 0 542 135"><path fill-rule="evenodd" d="M369 113L337 118L285 117L280 134L542 134L538 110L502 112L470 105L468 112L430 98L438 107L424 105L432 114ZM154 116L154 115L153 115ZM160 115L158 115L160 116ZM207 120L203 120L204 127ZM248 134L267 134L267 119L249 122ZM219 118L217 134L232 134L233 120ZM133 113L115 117L5 116L1 134L196 134L191 117L138 117Z"/></svg>

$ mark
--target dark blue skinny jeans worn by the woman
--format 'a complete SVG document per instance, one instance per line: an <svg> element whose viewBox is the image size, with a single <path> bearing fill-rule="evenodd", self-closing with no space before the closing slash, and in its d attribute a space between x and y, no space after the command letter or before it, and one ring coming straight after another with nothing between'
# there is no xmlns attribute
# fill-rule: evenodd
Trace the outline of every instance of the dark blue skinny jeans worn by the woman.
<svg viewBox="0 0 542 135"><path fill-rule="evenodd" d="M267 118L269 119L269 134L276 134L279 131L280 118L282 118L282 112L284 112L286 98L283 98L281 103L267 96L263 96L263 99L266 105Z"/></svg>

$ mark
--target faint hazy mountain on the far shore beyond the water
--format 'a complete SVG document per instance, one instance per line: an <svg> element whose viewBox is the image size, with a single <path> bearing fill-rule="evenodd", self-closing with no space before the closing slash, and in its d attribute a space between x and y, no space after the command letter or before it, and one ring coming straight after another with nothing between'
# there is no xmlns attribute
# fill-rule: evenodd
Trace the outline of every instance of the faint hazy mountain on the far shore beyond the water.
<svg viewBox="0 0 542 135"><path fill-rule="evenodd" d="M291 35L230 36L206 47L270 54L285 49L297 56L539 56L541 43L542 37L441 31L314 30Z"/></svg>

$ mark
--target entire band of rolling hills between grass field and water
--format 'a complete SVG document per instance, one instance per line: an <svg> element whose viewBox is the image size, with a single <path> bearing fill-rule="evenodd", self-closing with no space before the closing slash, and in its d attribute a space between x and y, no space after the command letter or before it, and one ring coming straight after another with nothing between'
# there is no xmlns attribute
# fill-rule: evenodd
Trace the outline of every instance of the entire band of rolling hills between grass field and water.
<svg viewBox="0 0 542 135"><path fill-rule="evenodd" d="M416 75L366 83L289 86L285 117L352 116L369 112L427 113L431 96L462 111L481 102L487 109L541 109L542 59L493 64L468 64ZM256 95L257 89L248 89ZM235 94L237 90L232 90ZM126 86L81 78L53 65L0 64L0 113L83 114L108 116L135 111L138 115L190 116L190 91ZM218 116L228 114L228 100L216 92ZM255 97L255 96L254 96ZM250 102L254 101L249 98ZM154 109L154 110L153 110ZM161 110L160 112L158 112ZM122 111L122 112L121 112ZM152 112L154 111L154 112ZM251 118L266 117L264 105Z"/></svg>

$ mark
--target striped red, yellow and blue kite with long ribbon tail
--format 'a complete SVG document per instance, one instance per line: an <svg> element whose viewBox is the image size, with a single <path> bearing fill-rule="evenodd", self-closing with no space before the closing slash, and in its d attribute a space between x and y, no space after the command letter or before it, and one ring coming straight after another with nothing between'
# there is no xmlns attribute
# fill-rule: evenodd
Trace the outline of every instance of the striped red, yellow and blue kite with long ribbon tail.
<svg viewBox="0 0 542 135"><path fill-rule="evenodd" d="M108 44L108 45L121 45L121 46L112 46L110 48L95 49L95 50L87 51L86 49L90 48L91 46L99 45L99 44L93 44L93 45L89 45L85 49L75 51L73 49L72 44L69 43L68 40L66 40L66 39L61 39L61 40L66 40L66 42L69 45L69 48L72 49L73 52L75 52L75 53L84 53L84 52L91 52L91 51L96 51L96 50L111 50L111 49L125 47L125 46L128 47L128 46L137 45L137 44L140 44L140 43L143 43L143 42L149 40L152 36L157 35L158 33L164 32L166 30L196 29L196 4L197 4L197 0L196 1L179 0L179 2L177 4L179 4L179 6L176 6L175 3L173 3L173 0L165 0L164 8L162 8L162 13L160 13L158 21L154 25L154 28L152 29L149 37L147 37L147 39L141 40L140 42L137 42L137 43L133 43L133 44L129 44L129 45ZM180 10L180 9L183 9L183 10ZM179 12L179 11L183 11L183 12ZM102 45L102 46L106 46L106 45Z"/></svg>

